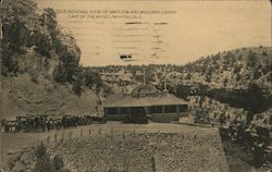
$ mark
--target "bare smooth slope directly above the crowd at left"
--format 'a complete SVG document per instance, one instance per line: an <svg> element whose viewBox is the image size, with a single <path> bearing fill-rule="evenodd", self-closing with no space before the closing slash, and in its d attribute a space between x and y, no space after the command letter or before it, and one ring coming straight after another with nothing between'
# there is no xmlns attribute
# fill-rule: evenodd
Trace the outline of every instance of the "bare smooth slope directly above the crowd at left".
<svg viewBox="0 0 272 172"><path fill-rule="evenodd" d="M40 76L41 77L41 76ZM97 96L85 90L76 96L71 86L52 83L46 78L34 83L30 77L2 77L2 118L11 119L27 113L90 114L95 112Z"/></svg>

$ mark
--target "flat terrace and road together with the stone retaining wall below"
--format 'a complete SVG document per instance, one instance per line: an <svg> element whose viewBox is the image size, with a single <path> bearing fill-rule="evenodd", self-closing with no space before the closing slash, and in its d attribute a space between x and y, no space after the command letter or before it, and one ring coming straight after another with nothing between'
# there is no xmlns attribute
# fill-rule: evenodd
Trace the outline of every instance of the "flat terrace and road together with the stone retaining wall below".
<svg viewBox="0 0 272 172"><path fill-rule="evenodd" d="M72 137L69 137L70 133ZM63 142L60 140L62 134ZM16 152L22 147L33 147L42 140L48 144L51 156L62 155L72 171L109 171L110 169L152 171L152 159L156 161L156 168L162 171L225 171L227 169L221 140L214 128L170 123L108 122L49 133L2 133L1 137L3 160L1 162L5 165L8 157L11 157L8 156L9 152Z"/></svg>

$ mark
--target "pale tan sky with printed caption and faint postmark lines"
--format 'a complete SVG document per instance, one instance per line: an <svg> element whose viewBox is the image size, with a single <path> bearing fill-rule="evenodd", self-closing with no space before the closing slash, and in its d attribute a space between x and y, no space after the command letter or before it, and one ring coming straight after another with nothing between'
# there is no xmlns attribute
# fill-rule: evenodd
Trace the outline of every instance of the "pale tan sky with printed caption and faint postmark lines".
<svg viewBox="0 0 272 172"><path fill-rule="evenodd" d="M243 47L271 47L271 3L36 0L77 40L81 64L185 64Z"/></svg>

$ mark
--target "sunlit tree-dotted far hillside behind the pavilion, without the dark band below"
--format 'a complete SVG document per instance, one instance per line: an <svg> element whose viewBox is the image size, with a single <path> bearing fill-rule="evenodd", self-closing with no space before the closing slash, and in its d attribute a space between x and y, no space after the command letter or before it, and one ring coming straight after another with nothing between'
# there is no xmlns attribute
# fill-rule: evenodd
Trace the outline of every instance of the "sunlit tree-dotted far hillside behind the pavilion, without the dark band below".
<svg viewBox="0 0 272 172"><path fill-rule="evenodd" d="M146 69L147 81L159 84L164 81L165 65L109 65L97 67L106 77L115 76L118 82L141 82L143 67ZM166 64L168 84L194 85L210 87L246 89L250 83L262 88L272 89L272 47L240 48L206 58L185 65Z"/></svg>

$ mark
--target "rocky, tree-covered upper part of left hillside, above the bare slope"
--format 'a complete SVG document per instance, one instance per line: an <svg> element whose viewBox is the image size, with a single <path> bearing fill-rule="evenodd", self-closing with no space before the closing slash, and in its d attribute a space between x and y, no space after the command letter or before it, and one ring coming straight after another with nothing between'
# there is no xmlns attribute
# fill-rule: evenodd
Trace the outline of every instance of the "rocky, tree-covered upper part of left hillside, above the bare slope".
<svg viewBox="0 0 272 172"><path fill-rule="evenodd" d="M39 75L44 75L60 84L72 84L78 96L83 86L97 85L99 90L99 74L79 65L81 49L75 38L59 26L54 10L47 8L41 14L38 11L33 0L3 1L2 75L28 73L37 84ZM50 67L53 73L48 73Z"/></svg>

